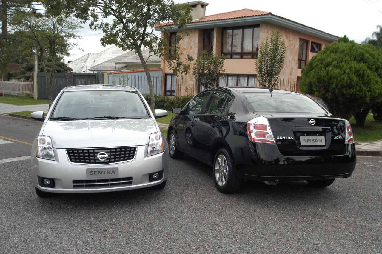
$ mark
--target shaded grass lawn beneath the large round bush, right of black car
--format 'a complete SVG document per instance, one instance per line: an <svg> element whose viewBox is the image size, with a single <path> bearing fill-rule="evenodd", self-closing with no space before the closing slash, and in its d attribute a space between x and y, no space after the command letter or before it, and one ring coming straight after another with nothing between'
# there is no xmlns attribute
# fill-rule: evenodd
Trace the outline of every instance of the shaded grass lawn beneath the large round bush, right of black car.
<svg viewBox="0 0 382 254"><path fill-rule="evenodd" d="M374 121L373 115L368 115L365 126L359 128L356 126L354 117L349 120L355 141L374 142L382 139L382 123Z"/></svg>

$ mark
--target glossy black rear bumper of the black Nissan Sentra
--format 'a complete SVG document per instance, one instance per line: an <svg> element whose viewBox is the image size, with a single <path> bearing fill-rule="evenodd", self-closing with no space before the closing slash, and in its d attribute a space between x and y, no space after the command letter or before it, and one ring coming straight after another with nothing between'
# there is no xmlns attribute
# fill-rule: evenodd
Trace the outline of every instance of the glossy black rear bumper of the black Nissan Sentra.
<svg viewBox="0 0 382 254"><path fill-rule="evenodd" d="M238 176L249 180L320 180L350 177L356 166L355 145L343 155L293 156L280 154L275 144L233 148Z"/></svg>

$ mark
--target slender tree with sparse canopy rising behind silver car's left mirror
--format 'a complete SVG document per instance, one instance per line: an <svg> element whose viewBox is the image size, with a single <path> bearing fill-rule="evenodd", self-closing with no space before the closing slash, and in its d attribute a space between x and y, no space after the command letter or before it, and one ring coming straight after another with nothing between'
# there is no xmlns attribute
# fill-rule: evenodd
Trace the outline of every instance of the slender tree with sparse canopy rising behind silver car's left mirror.
<svg viewBox="0 0 382 254"><path fill-rule="evenodd" d="M24 49L28 51L33 47L37 50L44 72L49 78L50 108L56 60L63 55L69 55L69 50L77 45L70 40L81 38L76 34L80 26L74 19L63 15L52 16L32 12L19 13L13 18L12 25L15 30L18 29L17 33L23 41ZM50 74L47 62L52 63Z"/></svg>

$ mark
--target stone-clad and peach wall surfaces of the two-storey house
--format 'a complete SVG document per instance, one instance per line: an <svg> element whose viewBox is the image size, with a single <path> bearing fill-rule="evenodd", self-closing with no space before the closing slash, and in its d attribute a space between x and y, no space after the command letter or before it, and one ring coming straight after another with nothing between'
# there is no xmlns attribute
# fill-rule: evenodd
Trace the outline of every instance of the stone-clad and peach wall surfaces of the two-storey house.
<svg viewBox="0 0 382 254"><path fill-rule="evenodd" d="M227 25L227 27L229 27ZM307 49L307 60L309 61L316 53L310 52L311 42L317 42L322 45L321 50L325 45L329 45L331 42L329 40L320 39L318 37L310 36L308 34L303 34L298 31L294 31L282 26L276 26L274 24L262 22L260 23L259 32L259 44L265 39L265 37L270 37L271 32L274 29L280 31L281 37L285 40L286 45L286 55L283 71L280 75L280 79L286 79L287 82L279 84L277 88L299 91L298 83L295 82L301 76L301 69L298 68L298 49L299 49L299 39L308 40ZM203 29L189 29L189 36L186 32L180 32L179 34L183 37L180 45L180 52L183 54L181 59L185 59L186 55L192 55L194 57L193 63L191 63L191 71L188 74L192 78L192 67L195 63L197 57L202 55L203 50ZM214 27L214 53L220 55L222 50L222 27ZM163 76L165 73L172 73L167 65L162 61ZM256 75L256 59L226 59L224 62L224 68L226 74L247 74ZM177 79L178 80L178 79ZM181 79L179 79L181 80ZM191 80L191 79L189 79ZM164 80L163 80L164 81ZM291 81L295 82L294 84ZM177 84L176 95L186 95L192 94L192 92L197 91L197 85L194 82L181 82ZM163 82L163 84L165 84ZM164 91L164 87L163 87Z"/></svg>

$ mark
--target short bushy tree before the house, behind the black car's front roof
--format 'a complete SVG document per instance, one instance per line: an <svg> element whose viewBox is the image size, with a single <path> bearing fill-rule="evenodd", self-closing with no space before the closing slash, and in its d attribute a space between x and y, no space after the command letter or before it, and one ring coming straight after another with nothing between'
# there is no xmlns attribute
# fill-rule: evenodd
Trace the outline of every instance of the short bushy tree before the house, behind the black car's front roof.
<svg viewBox="0 0 382 254"><path fill-rule="evenodd" d="M224 59L224 55L219 57L213 52L208 53L207 50L203 50L202 57L197 58L194 65L194 77L199 86L217 87L219 77L225 73Z"/></svg>

